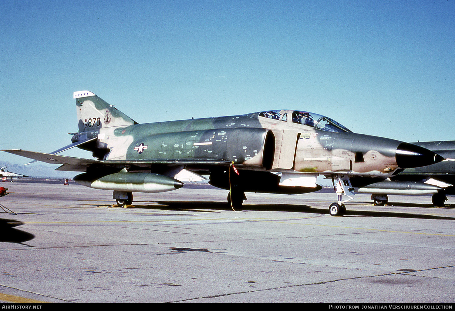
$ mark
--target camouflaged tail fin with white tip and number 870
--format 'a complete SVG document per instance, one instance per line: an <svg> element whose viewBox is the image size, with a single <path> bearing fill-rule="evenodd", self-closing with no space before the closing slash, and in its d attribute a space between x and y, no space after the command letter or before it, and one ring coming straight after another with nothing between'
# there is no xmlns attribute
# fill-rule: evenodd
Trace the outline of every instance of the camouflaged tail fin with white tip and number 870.
<svg viewBox="0 0 455 311"><path fill-rule="evenodd" d="M138 124L90 91L74 92L79 133L102 127Z"/></svg>

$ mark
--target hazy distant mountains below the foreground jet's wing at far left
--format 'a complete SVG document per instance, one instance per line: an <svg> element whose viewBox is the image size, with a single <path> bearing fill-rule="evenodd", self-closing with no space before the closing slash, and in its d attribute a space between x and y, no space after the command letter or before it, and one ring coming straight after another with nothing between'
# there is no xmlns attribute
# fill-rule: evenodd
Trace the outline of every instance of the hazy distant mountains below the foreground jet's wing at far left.
<svg viewBox="0 0 455 311"><path fill-rule="evenodd" d="M79 172L54 171L58 165L43 165L37 162L25 166L23 164L13 164L0 160L0 167L5 165L8 166L5 171L36 178L73 178L77 174L80 174Z"/></svg>

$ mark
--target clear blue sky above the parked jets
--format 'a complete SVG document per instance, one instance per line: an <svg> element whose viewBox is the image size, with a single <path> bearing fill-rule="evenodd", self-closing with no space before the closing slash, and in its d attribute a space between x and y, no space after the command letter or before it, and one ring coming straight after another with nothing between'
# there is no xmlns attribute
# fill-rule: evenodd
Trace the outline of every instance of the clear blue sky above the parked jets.
<svg viewBox="0 0 455 311"><path fill-rule="evenodd" d="M369 135L455 139L454 0L2 0L0 12L1 149L71 143L78 90L139 123L298 109Z"/></svg>

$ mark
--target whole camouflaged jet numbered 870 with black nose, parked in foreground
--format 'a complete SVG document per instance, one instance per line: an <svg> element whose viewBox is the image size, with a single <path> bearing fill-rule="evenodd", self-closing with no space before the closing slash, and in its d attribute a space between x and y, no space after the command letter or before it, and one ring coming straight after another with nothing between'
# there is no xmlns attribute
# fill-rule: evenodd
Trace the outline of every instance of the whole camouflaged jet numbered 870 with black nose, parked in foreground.
<svg viewBox="0 0 455 311"><path fill-rule="evenodd" d="M162 192L183 186L174 176L186 169L209 175L213 186L229 190L238 208L245 192L299 194L318 191L319 175L337 179L344 194L349 178L384 177L444 160L433 151L402 141L356 134L311 112L270 110L191 120L138 124L90 91L74 93L79 130L72 144L51 154L5 150L46 163L56 170L84 172L78 183L113 190L119 206L131 205L132 191ZM59 156L79 147L96 160ZM335 181L334 181L335 184ZM339 195L329 207L342 216Z"/></svg>

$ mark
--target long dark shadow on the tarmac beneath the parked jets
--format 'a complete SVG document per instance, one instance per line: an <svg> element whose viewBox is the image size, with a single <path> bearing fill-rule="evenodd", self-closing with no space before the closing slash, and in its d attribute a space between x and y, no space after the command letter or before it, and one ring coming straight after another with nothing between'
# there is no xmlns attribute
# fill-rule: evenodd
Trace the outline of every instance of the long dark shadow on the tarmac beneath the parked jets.
<svg viewBox="0 0 455 311"><path fill-rule="evenodd" d="M149 205L134 205L133 208L144 208L144 209L157 209L157 210L171 210L171 211L204 211L207 210L220 210L227 211L231 210L231 207L224 202L201 202L201 201L151 201L141 203L152 203ZM361 202L369 204L368 202ZM391 203L393 205L393 203ZM433 207L431 205L419 205L419 204L402 204L397 203L395 206L416 206L416 207ZM382 206L377 206L381 208ZM391 207L391 206L389 206ZM244 203L242 210L238 211L288 211L297 213L309 213L309 214L329 214L329 208L316 208L308 205L297 205L297 204L247 204ZM444 219L444 220L455 220L455 217L447 216L434 216L434 215L423 215L413 213L403 213L394 211L358 211L348 210L344 214L346 216L371 216L371 217L394 217L394 218L415 218L415 219Z"/></svg>

